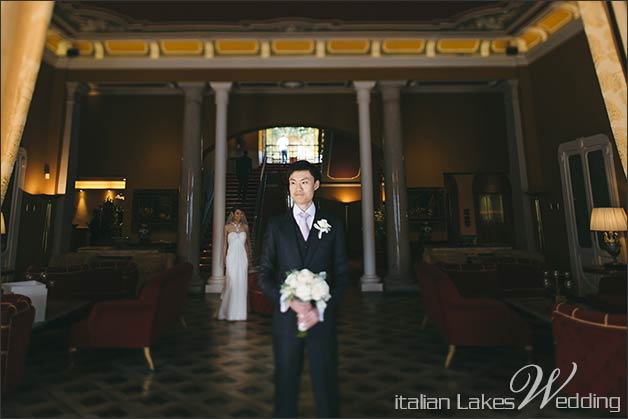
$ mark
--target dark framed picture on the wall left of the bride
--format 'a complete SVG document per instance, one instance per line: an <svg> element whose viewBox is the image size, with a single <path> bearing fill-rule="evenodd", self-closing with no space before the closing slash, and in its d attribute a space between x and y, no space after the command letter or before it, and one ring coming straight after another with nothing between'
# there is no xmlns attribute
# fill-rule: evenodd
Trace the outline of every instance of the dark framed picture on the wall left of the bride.
<svg viewBox="0 0 628 419"><path fill-rule="evenodd" d="M151 231L176 231L179 205L177 189L135 189L132 229L148 224Z"/></svg>

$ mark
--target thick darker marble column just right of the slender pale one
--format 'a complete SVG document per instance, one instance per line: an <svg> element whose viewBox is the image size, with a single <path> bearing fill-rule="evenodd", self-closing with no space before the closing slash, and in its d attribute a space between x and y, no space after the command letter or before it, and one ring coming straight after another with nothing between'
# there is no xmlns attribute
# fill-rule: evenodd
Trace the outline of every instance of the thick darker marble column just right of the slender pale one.
<svg viewBox="0 0 628 419"><path fill-rule="evenodd" d="M380 81L384 105L384 186L386 190L386 290L416 290L410 272L408 194L401 131L400 90L405 81Z"/></svg>

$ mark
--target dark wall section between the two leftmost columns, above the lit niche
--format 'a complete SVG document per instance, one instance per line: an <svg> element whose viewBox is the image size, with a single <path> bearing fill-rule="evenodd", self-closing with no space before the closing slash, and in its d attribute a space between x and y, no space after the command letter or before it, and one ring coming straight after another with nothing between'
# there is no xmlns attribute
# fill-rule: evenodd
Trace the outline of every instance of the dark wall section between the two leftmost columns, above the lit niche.
<svg viewBox="0 0 628 419"><path fill-rule="evenodd" d="M123 234L131 230L135 189L179 189L183 97L88 96L81 113L79 177L127 180ZM91 213L93 208L88 208ZM176 240L176 232L151 232L153 240Z"/></svg>

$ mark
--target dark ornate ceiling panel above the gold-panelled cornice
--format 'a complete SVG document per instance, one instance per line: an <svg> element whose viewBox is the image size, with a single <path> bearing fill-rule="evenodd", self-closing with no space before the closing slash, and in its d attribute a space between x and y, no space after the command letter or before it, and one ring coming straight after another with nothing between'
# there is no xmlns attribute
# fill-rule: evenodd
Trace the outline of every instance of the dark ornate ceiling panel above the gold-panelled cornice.
<svg viewBox="0 0 628 419"><path fill-rule="evenodd" d="M481 32L512 34L549 2L206 1L57 2L54 25L71 37L155 32Z"/></svg>

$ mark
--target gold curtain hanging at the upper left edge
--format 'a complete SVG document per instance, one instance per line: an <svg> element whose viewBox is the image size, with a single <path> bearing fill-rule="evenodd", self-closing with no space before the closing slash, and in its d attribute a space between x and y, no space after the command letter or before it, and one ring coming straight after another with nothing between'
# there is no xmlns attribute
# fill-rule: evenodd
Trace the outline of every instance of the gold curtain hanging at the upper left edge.
<svg viewBox="0 0 628 419"><path fill-rule="evenodd" d="M3 1L2 8L2 201L33 97L53 1Z"/></svg>

